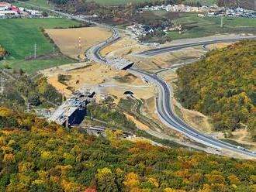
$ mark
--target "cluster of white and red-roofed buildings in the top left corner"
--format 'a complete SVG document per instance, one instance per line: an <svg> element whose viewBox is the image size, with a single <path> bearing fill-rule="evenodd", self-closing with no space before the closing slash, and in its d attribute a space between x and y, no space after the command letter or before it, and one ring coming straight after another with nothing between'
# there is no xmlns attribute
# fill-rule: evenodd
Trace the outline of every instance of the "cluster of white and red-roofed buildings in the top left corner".
<svg viewBox="0 0 256 192"><path fill-rule="evenodd" d="M45 16L47 16L46 13L43 14L43 12L38 10L16 7L8 2L0 2L0 19L40 18Z"/></svg>

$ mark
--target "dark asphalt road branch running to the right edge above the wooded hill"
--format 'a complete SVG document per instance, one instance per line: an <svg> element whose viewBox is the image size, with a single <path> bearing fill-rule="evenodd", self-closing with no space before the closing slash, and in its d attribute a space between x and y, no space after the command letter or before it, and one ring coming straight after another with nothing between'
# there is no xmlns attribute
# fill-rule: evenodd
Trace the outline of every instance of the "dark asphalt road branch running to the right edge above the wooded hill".
<svg viewBox="0 0 256 192"><path fill-rule="evenodd" d="M206 41L196 42L196 43L182 43L180 45L175 45L175 46L165 46L165 47L161 47L153 50L146 50L144 52L137 53L137 56L152 57L162 53L168 53L175 50L182 50L182 49L190 48L194 46L206 46L214 43L230 43L230 42L236 42L242 39L256 39L256 36L234 36L234 37L227 36L226 38L221 38L221 39L218 39L218 37L214 37L213 40L206 40Z"/></svg>

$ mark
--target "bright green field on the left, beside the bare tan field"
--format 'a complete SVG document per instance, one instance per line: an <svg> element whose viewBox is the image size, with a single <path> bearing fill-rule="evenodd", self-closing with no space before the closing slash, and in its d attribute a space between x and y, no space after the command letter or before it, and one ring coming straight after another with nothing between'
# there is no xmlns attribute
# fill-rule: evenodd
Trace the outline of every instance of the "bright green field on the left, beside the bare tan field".
<svg viewBox="0 0 256 192"><path fill-rule="evenodd" d="M27 72L33 72L45 67L53 67L63 63L70 62L64 58L45 59L45 60L24 60L33 54L34 44L36 43L37 55L52 53L54 44L43 36L41 29L43 28L67 28L78 26L78 22L69 19L2 19L0 22L0 44L10 53L7 60L2 61L8 63L10 67L22 68Z"/></svg>

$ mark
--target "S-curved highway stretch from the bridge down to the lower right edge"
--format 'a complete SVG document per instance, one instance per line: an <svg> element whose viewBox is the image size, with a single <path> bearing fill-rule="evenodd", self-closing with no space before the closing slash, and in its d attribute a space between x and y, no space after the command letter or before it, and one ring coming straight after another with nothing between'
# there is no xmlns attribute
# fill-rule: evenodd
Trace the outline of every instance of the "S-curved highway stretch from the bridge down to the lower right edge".
<svg viewBox="0 0 256 192"><path fill-rule="evenodd" d="M171 129L175 129L178 132L182 132L182 134L206 146L210 146L219 150L228 149L236 153L242 153L253 158L256 158L256 154L254 154L253 151L231 145L230 143L227 142L222 142L218 139L214 139L213 137L210 137L208 135L203 134L202 132L197 131L196 129L193 129L191 126L183 122L182 119L178 118L175 115L173 108L171 107L172 88L165 81L161 80L161 78L133 68L129 69L129 71L133 74L140 75L146 78L148 81L156 84L157 112L159 117L161 118L161 121L169 127L171 127Z"/></svg>

